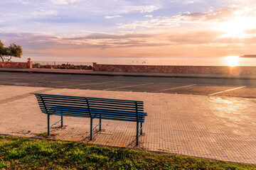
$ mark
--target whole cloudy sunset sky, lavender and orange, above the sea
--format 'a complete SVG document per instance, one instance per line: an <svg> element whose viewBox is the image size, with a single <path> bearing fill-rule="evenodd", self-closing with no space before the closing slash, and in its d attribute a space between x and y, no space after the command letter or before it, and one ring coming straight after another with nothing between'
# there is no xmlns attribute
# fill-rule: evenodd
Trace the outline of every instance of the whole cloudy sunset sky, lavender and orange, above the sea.
<svg viewBox="0 0 256 170"><path fill-rule="evenodd" d="M0 0L0 40L38 57L256 53L255 0Z"/></svg>

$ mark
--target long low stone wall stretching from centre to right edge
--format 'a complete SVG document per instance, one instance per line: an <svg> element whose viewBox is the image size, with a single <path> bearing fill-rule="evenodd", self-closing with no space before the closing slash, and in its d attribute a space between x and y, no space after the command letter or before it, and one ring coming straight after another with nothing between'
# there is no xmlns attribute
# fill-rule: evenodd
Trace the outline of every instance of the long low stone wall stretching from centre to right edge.
<svg viewBox="0 0 256 170"><path fill-rule="evenodd" d="M256 74L256 67L228 66L161 66L92 64L94 71L106 72L158 72L158 73L202 73L202 74Z"/></svg>

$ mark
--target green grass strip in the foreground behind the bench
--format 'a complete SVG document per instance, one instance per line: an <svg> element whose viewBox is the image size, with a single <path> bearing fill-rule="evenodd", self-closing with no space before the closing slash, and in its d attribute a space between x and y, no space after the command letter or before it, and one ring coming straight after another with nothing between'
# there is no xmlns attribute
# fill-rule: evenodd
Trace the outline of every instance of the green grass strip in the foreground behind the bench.
<svg viewBox="0 0 256 170"><path fill-rule="evenodd" d="M0 169L256 169L256 166L0 135Z"/></svg>

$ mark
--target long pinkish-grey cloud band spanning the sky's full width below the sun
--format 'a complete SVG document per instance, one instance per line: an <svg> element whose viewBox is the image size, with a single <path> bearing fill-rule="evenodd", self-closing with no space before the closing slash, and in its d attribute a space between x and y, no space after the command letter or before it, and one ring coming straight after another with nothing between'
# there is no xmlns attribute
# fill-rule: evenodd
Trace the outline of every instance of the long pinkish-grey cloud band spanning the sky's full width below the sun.
<svg viewBox="0 0 256 170"><path fill-rule="evenodd" d="M252 30L255 33L255 30ZM222 33L217 30L191 30L164 33L109 34L91 33L89 35L66 35L57 37L49 34L36 33L0 33L3 40L12 41L33 47L51 47L52 45L75 45L77 47L144 47L163 45L207 45L213 43L256 43L252 38L220 38ZM256 36L256 35L255 35Z"/></svg>

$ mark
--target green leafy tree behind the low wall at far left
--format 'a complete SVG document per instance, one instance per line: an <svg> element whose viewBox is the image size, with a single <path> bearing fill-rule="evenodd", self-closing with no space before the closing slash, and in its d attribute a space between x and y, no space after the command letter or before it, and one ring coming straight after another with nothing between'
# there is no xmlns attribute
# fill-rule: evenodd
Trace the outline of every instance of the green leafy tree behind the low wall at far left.
<svg viewBox="0 0 256 170"><path fill-rule="evenodd" d="M4 47L4 44L0 40L0 58L2 62L7 60L7 62L11 62L11 57L21 58L22 55L22 47L21 45L16 45L15 43L11 43L9 47Z"/></svg>

